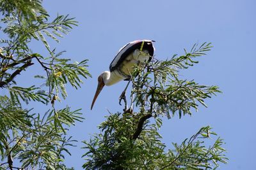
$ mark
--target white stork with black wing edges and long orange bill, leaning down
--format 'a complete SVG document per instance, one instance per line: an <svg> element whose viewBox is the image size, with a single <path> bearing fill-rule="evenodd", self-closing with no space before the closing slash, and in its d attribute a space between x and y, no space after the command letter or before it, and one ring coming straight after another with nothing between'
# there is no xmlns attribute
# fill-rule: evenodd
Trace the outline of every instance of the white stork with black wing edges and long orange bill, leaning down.
<svg viewBox="0 0 256 170"><path fill-rule="evenodd" d="M95 96L93 97L91 110L105 85L110 86L122 80L128 80L130 82L133 66L135 64L148 62L152 59L155 50L152 42L154 41L147 39L136 40L127 43L127 45L120 48L116 57L109 66L109 71L104 71L98 77L98 86ZM129 82L125 87L125 90L127 89ZM125 95L125 90L122 92L123 96ZM119 98L120 101L122 99L122 95Z"/></svg>

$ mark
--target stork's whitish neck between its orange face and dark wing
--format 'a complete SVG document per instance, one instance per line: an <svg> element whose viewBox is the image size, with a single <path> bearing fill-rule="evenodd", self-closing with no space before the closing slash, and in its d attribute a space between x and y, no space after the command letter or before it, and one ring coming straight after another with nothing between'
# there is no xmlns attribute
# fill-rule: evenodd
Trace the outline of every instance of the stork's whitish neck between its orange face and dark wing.
<svg viewBox="0 0 256 170"><path fill-rule="evenodd" d="M124 76L122 76L118 71L105 71L104 75L104 84L109 86L117 83L118 81L124 80Z"/></svg>

